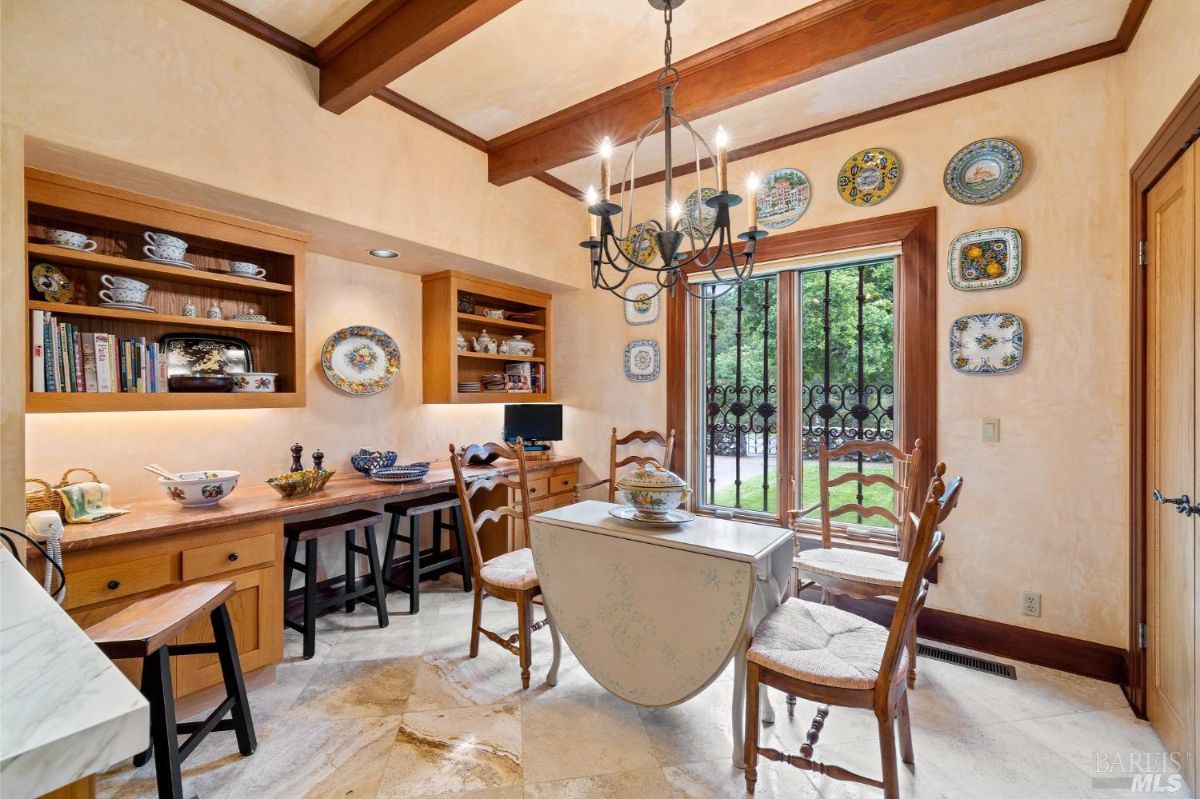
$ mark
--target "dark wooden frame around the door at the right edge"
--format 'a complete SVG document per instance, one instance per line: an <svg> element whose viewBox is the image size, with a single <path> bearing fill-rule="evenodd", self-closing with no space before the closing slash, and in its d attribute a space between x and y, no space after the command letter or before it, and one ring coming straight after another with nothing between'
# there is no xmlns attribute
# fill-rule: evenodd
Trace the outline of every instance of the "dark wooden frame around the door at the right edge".
<svg viewBox="0 0 1200 799"><path fill-rule="evenodd" d="M1129 649L1126 684L1129 707L1146 717L1146 650L1139 626L1146 621L1146 270L1140 244L1147 240L1146 194L1200 133L1200 78L1129 169Z"/></svg>

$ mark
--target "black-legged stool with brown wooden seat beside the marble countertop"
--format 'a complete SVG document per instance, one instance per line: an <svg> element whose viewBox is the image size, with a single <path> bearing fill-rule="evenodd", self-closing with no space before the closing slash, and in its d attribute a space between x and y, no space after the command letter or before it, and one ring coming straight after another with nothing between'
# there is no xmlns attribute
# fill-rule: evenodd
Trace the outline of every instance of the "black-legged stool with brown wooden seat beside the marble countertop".
<svg viewBox="0 0 1200 799"><path fill-rule="evenodd" d="M143 765L154 755L160 799L182 799L180 769L184 759L210 732L234 731L238 751L242 755L253 755L258 747L238 661L238 643L226 609L226 601L233 595L234 583L228 579L192 583L138 600L86 630L109 657L142 659L142 695L150 702L150 749L134 757L133 764ZM204 614L212 623L212 643L168 645ZM216 655L221 661L226 698L204 721L175 721L170 657L176 655ZM226 719L226 714L230 717ZM181 734L188 734L182 745L179 744Z"/></svg>

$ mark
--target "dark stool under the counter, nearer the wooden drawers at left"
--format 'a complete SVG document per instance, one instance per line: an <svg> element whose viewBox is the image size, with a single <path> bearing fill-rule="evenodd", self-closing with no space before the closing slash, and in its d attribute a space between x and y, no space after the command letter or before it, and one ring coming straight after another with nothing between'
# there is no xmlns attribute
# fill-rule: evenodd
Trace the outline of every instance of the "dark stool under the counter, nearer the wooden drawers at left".
<svg viewBox="0 0 1200 799"><path fill-rule="evenodd" d="M308 660L317 650L317 614L320 611L344 605L346 612L354 611L358 600L376 608L379 617L379 626L388 626L388 591L383 585L383 571L379 569L379 547L374 540L374 525L383 521L383 515L374 511L360 509L325 516L323 518L310 518L304 522L288 522L283 525L283 536L287 539L287 548L283 553L283 624L304 635L304 659ZM362 543L354 542L355 536L362 531ZM326 535L346 536L346 582L344 588L324 599L317 597L317 542ZM304 563L296 563L296 548L305 545ZM358 588L358 576L355 575L355 555L367 557L367 584ZM290 590L292 572L299 571L304 575L304 588ZM296 621L287 612L288 600L293 596L304 596L304 620Z"/></svg>

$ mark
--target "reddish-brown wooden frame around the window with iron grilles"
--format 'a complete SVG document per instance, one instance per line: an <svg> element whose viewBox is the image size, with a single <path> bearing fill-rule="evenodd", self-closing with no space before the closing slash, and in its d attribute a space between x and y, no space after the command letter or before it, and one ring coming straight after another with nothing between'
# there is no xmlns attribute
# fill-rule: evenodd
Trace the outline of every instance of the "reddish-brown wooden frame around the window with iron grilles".
<svg viewBox="0 0 1200 799"><path fill-rule="evenodd" d="M853 247L869 247L899 242L896 258L895 307L896 307L896 377L906 396L919 397L919 402L901 402L899 408L898 445L912 447L922 439L926 463L937 463L937 283L942 275L937 258L937 209L925 208L901 214L892 214L870 220L844 222L809 230L781 233L758 242L757 260L762 263L817 256ZM794 329L796 307L794 278L790 272L780 275L778 324L780 329ZM698 325L695 307L686 292L677 290L667 298L667 428L678 433L671 469L684 475L691 474L695 461L700 427L694 413L692 391L696 373L695 352L689 352L688 342ZM793 337L780 338L778 349L778 380L780 386L796 383L797 342ZM796 392L780 392L781 417L794 419L797 414ZM780 447L776 470L780 486L794 486L799 476L793 463L793 446ZM764 517L762 513L734 513L748 522L787 523L787 505L780 492L779 513ZM814 528L816 529L816 527ZM850 541L850 539L847 539Z"/></svg>

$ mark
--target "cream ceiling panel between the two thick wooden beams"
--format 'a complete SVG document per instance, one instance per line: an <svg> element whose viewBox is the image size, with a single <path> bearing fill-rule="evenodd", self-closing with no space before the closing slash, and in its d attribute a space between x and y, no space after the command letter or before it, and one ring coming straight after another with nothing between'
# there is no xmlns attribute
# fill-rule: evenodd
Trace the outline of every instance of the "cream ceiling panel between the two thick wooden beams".
<svg viewBox="0 0 1200 799"><path fill-rule="evenodd" d="M817 0L688 0L676 61ZM521 0L390 88L494 138L662 66L662 14L647 0Z"/></svg>

